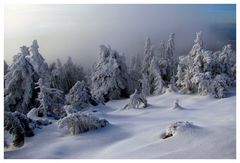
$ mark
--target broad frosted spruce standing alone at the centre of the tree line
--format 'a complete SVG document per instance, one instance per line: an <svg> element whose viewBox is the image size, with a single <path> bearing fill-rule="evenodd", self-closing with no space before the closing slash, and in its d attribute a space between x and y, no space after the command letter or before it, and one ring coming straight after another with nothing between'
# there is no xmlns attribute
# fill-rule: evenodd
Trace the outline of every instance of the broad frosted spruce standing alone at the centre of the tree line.
<svg viewBox="0 0 240 163"><path fill-rule="evenodd" d="M100 46L100 59L94 65L91 77L91 93L99 102L128 97L129 75L125 58L110 46Z"/></svg>

